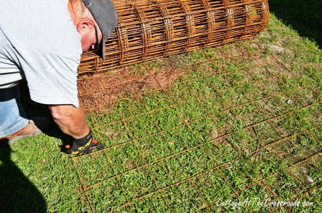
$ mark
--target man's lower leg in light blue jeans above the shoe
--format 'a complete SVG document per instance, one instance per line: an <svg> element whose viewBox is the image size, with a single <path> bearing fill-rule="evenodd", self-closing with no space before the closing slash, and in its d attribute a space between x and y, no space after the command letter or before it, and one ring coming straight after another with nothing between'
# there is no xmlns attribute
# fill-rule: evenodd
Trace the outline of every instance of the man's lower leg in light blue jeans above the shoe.
<svg viewBox="0 0 322 213"><path fill-rule="evenodd" d="M19 86L0 89L0 137L21 130L28 122L20 103Z"/></svg>

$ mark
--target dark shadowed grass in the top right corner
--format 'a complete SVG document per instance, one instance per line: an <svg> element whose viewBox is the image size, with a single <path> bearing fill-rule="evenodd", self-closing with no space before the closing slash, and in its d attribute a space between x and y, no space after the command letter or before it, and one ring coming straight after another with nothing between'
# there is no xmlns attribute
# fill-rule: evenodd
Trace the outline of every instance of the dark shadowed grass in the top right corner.
<svg viewBox="0 0 322 213"><path fill-rule="evenodd" d="M300 36L316 41L322 47L322 1L269 0L270 12L286 25L292 26Z"/></svg>

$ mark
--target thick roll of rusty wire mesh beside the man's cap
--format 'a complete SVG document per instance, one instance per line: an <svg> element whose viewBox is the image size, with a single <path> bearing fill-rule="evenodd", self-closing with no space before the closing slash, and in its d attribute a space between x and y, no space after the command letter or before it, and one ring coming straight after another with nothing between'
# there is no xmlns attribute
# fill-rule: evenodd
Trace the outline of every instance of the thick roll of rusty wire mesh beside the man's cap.
<svg viewBox="0 0 322 213"><path fill-rule="evenodd" d="M84 53L78 73L253 38L268 23L267 0L114 0L116 30L103 61Z"/></svg>

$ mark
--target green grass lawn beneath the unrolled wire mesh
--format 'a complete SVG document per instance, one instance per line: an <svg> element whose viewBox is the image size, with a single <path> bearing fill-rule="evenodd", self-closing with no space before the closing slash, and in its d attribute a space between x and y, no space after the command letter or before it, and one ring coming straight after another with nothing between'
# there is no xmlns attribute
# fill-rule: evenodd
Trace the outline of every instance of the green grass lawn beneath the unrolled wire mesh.
<svg viewBox="0 0 322 213"><path fill-rule="evenodd" d="M271 14L256 39L127 69L177 72L87 113L104 150L71 158L56 126L0 149L1 212L322 211L316 43Z"/></svg>

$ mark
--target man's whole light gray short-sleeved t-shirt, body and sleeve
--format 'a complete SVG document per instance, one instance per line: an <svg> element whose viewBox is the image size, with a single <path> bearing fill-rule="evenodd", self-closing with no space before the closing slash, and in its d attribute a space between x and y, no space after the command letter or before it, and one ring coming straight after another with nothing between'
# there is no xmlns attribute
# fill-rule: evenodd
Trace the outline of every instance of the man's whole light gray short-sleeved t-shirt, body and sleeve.
<svg viewBox="0 0 322 213"><path fill-rule="evenodd" d="M26 78L32 100L78 107L82 44L67 3L0 0L0 89Z"/></svg>

